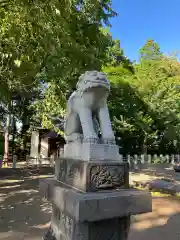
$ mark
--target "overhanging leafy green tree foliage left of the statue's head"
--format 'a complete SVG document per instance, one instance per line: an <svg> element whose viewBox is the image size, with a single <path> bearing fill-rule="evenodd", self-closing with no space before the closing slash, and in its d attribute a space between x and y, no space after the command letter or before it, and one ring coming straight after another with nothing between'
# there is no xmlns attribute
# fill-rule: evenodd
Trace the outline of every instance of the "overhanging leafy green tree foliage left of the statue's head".
<svg viewBox="0 0 180 240"><path fill-rule="evenodd" d="M102 26L109 26L109 18L116 15L111 1L12 0L0 8L0 15L0 87L4 89L0 97L8 111L12 111L9 103L18 99L20 118L24 111L34 111L32 119L49 128L49 116L64 113L78 76L85 70L100 70L107 61L112 37ZM48 88L42 87L42 80ZM31 97L22 107L19 99L30 90Z"/></svg>

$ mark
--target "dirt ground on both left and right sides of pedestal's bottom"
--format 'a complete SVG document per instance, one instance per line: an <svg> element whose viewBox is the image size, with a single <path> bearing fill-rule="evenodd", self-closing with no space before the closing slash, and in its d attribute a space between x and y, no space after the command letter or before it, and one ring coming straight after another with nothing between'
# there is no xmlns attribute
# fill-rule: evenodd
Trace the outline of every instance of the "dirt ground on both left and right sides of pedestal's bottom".
<svg viewBox="0 0 180 240"><path fill-rule="evenodd" d="M38 194L38 179L0 181L0 240L40 240L51 206ZM153 212L133 217L129 240L180 239L180 200L153 198Z"/></svg>

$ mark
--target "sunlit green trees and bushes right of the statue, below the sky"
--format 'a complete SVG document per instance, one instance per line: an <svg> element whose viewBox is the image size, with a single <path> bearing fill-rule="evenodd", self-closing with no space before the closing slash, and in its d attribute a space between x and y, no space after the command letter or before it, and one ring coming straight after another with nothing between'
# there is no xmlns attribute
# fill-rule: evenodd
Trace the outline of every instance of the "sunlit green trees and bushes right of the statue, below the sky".
<svg viewBox="0 0 180 240"><path fill-rule="evenodd" d="M180 63L164 56L154 41L140 53L134 73L123 64L104 69L112 82L109 106L116 136L124 153L172 153L180 142Z"/></svg>

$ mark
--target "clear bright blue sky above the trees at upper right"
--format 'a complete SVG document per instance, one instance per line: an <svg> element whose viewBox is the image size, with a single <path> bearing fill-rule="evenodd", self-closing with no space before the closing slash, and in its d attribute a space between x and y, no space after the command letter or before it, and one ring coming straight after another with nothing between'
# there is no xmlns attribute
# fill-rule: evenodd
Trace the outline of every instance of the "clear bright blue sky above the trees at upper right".
<svg viewBox="0 0 180 240"><path fill-rule="evenodd" d="M164 53L180 51L180 0L112 0L118 16L111 19L113 38L131 60L147 39Z"/></svg>

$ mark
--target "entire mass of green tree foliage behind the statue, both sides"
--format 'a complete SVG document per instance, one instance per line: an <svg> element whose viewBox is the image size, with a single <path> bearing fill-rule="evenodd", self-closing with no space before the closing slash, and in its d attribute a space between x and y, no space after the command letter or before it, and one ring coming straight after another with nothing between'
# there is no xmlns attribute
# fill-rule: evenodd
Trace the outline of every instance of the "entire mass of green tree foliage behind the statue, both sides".
<svg viewBox="0 0 180 240"><path fill-rule="evenodd" d="M109 109L122 153L179 151L180 63L153 39L131 62L110 34L114 16L110 0L0 5L0 118L6 130L16 131L14 119L22 123L17 137L34 124L54 129L51 117L64 116L79 75L96 69L111 81Z"/></svg>

